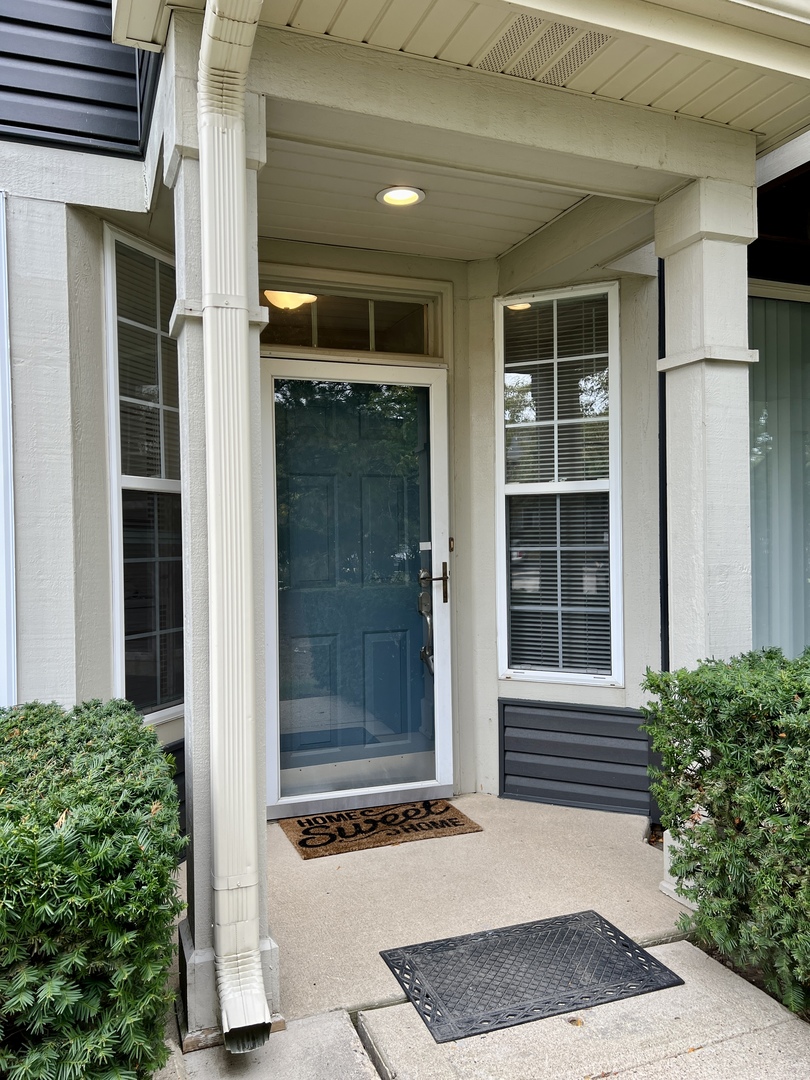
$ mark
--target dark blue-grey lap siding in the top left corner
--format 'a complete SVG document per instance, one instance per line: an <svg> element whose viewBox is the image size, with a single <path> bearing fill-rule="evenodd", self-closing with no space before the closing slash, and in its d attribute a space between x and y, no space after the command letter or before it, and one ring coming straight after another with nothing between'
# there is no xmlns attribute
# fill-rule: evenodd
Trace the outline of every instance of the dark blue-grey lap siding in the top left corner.
<svg viewBox="0 0 810 1080"><path fill-rule="evenodd" d="M0 0L0 137L140 156L160 57L111 26L110 0Z"/></svg>

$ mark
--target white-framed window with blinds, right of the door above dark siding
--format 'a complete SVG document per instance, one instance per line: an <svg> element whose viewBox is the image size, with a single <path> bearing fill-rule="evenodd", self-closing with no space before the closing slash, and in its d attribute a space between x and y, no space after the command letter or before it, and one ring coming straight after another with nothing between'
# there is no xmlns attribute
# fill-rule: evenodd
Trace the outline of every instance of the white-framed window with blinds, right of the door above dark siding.
<svg viewBox="0 0 810 1080"><path fill-rule="evenodd" d="M496 301L501 677L620 685L615 283Z"/></svg>

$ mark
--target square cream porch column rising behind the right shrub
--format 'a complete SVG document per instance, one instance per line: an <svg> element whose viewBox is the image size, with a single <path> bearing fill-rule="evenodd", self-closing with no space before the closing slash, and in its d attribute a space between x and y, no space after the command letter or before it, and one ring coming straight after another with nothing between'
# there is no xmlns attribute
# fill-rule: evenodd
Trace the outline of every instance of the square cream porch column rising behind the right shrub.
<svg viewBox="0 0 810 1080"><path fill-rule="evenodd" d="M665 259L666 483L673 667L751 648L745 245L755 190L697 180L656 210Z"/></svg>

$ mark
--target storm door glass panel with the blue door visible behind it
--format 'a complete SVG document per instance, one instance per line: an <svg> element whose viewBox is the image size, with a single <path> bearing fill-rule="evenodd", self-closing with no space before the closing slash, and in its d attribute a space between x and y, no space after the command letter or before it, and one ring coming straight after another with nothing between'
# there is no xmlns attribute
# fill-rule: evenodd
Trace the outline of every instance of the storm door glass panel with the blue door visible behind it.
<svg viewBox="0 0 810 1080"><path fill-rule="evenodd" d="M428 391L275 382L281 794L435 779Z"/></svg>

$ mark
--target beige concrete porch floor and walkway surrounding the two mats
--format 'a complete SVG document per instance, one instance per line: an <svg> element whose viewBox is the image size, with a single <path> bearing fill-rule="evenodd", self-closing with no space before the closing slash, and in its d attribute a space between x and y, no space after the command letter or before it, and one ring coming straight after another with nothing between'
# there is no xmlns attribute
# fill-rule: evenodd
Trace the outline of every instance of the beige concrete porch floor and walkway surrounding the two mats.
<svg viewBox="0 0 810 1080"><path fill-rule="evenodd" d="M305 862L268 826L287 1029L254 1054L180 1054L160 1080L793 1080L810 1026L678 937L646 822L485 795L483 833ZM685 981L437 1044L379 950L593 908ZM664 943L664 944L654 944Z"/></svg>

